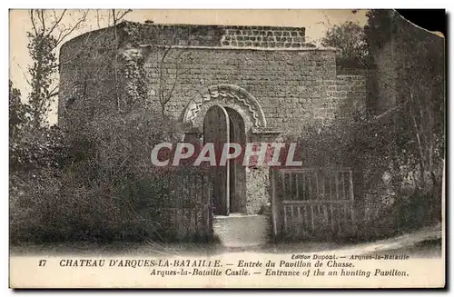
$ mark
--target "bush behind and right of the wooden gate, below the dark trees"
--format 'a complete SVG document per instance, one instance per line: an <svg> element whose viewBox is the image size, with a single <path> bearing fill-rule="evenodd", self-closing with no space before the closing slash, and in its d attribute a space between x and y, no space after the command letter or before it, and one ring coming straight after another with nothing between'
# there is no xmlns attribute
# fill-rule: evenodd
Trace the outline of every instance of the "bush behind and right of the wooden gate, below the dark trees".
<svg viewBox="0 0 454 297"><path fill-rule="evenodd" d="M389 237L441 220L441 179L434 173L431 179L420 178L417 157L402 149L393 124L357 116L309 126L298 139L304 167L352 170L359 214L355 240ZM411 186L409 176L415 176Z"/></svg>

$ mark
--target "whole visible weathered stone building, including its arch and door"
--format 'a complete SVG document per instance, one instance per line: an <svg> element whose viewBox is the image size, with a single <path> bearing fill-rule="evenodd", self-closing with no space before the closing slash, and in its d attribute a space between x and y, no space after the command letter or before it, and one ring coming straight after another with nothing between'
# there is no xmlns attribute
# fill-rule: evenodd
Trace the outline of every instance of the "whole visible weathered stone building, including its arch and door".
<svg viewBox="0 0 454 297"><path fill-rule="evenodd" d="M63 126L146 104L178 119L186 140L273 142L365 103L365 79L337 75L335 49L306 44L300 27L125 22L69 41L60 62ZM218 214L271 201L266 168L232 163L217 176Z"/></svg>

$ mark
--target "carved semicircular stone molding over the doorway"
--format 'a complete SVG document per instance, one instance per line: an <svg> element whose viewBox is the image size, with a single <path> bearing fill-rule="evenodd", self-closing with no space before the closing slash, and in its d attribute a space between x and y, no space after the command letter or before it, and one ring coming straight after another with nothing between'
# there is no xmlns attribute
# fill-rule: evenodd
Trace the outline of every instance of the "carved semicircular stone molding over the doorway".
<svg viewBox="0 0 454 297"><path fill-rule="evenodd" d="M183 111L183 124L202 128L208 109L214 105L231 107L242 115L247 129L266 128L262 107L252 94L234 84L217 84L198 92Z"/></svg>

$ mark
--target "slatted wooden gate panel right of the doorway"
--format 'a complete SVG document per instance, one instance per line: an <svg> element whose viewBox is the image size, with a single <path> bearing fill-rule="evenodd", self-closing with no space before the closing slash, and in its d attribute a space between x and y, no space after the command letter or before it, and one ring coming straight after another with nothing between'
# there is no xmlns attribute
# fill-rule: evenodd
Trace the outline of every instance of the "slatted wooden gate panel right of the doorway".
<svg viewBox="0 0 454 297"><path fill-rule="evenodd" d="M273 233L285 238L337 238L354 232L349 168L271 171Z"/></svg>

